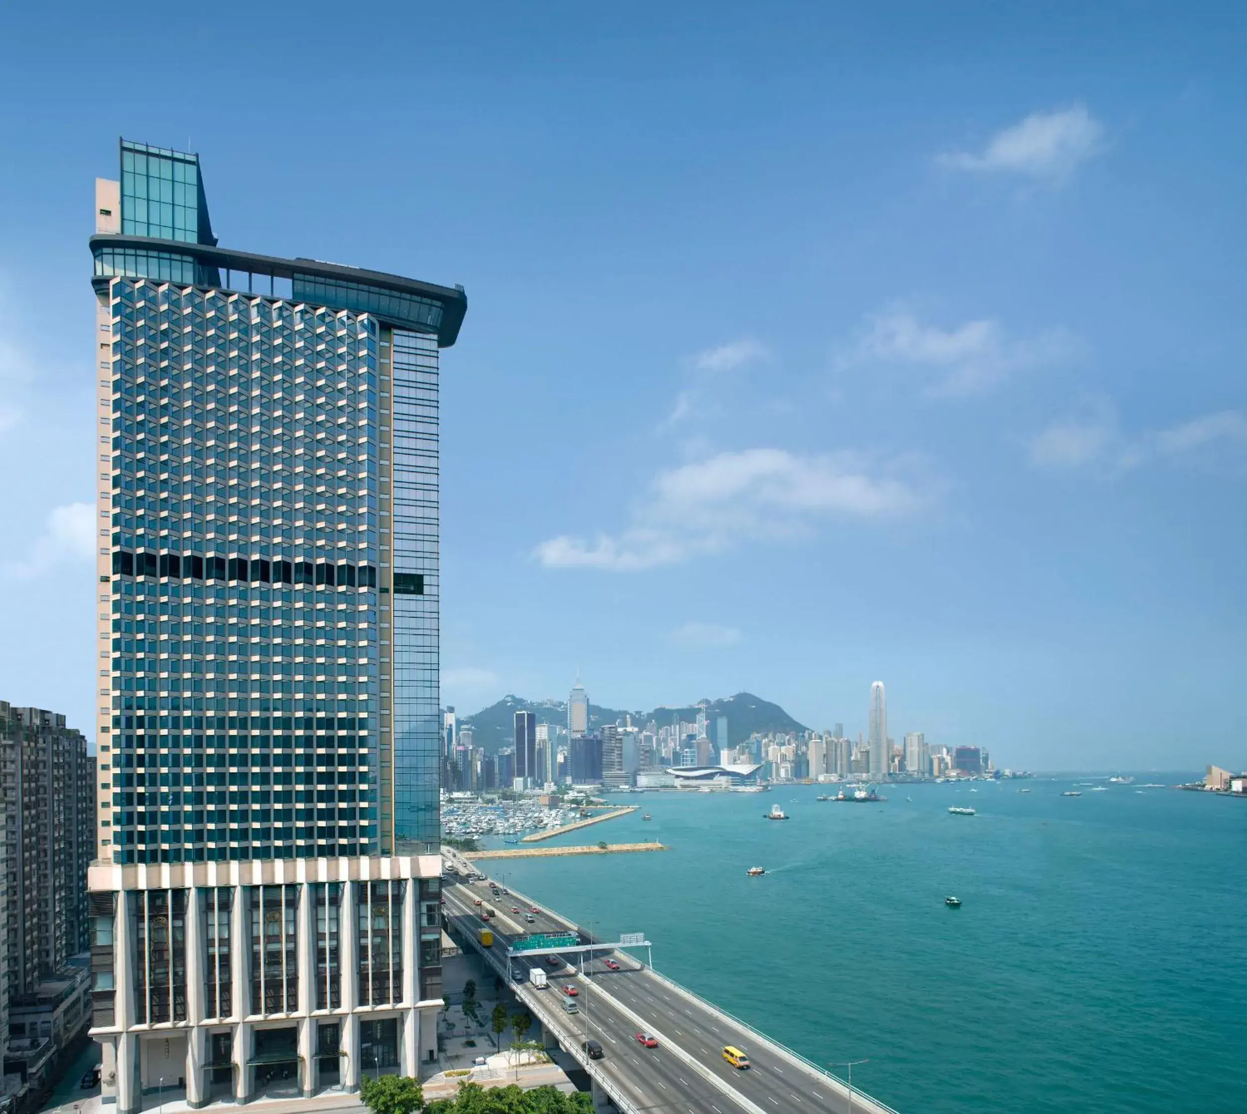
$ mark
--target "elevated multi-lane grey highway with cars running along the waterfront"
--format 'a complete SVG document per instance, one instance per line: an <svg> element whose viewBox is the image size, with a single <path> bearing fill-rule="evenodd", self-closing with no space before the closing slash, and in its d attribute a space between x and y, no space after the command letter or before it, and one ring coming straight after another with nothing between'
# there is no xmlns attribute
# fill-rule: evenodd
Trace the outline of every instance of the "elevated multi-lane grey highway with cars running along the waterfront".
<svg viewBox="0 0 1247 1114"><path fill-rule="evenodd" d="M490 949L506 967L508 943L531 932L577 932L576 926L521 894L495 897L488 881L451 883L445 887L448 921L465 941L475 942L485 926L481 911L489 906L496 916L489 922L494 932ZM475 902L480 901L478 906ZM519 909L520 912L513 912ZM524 919L525 912L534 919ZM579 932L582 943L589 939ZM591 962L581 963L574 953L557 957L551 969L544 957L511 961L513 971L524 969L524 981L513 986L519 997L542 1018L559 1043L584 1060L582 1044L592 1038L601 1043L604 1057L592 1067L607 1078L635 1108L646 1112L692 1112L692 1114L847 1114L849 1095L839 1080L816 1072L786 1049L761 1039L708 1003L658 977L630 956L604 951ZM610 959L619 971L606 966ZM542 967L550 986L532 987L527 972ZM566 987L579 990L580 1012L564 1013L561 998ZM657 1048L646 1048L636 1033L647 1030L658 1039ZM722 1055L725 1045L748 1053L752 1067L731 1067ZM858 1114L885 1114L883 1107L855 1093L852 1109Z"/></svg>

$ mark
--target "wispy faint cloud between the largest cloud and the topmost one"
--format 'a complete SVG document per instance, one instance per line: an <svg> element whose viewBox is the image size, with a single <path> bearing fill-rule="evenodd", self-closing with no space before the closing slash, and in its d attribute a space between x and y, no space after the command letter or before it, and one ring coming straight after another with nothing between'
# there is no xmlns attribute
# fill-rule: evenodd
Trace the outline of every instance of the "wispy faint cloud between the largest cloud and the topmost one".
<svg viewBox="0 0 1247 1114"><path fill-rule="evenodd" d="M927 388L936 397L981 393L1018 372L1062 363L1079 351L1064 329L1011 338L990 318L950 329L922 323L905 309L870 318L857 342L835 359L845 371L863 364L903 364L935 372Z"/></svg>

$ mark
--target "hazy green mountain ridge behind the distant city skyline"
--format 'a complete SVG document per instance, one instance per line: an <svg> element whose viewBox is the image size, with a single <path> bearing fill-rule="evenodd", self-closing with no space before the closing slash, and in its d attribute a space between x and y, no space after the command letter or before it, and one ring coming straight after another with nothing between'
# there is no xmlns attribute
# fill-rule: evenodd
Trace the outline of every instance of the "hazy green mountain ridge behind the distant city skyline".
<svg viewBox="0 0 1247 1114"><path fill-rule="evenodd" d="M473 742L485 748L486 753L496 753L515 741L515 712L530 711L539 724L557 724L566 726L567 705L561 700L530 701L509 692L501 700L469 716L461 716L460 727L473 729ZM651 720L658 727L668 727L676 720L691 724L697 719L696 704L668 707L660 705L651 711L635 709L611 709L602 705L589 705L589 730L596 731L604 724L614 724L625 716L632 716L632 722L643 727ZM803 724L794 720L778 704L754 696L752 692L737 692L706 701L706 715L711 721L727 716L727 740L729 746L738 746L751 735L787 734L807 731Z"/></svg>

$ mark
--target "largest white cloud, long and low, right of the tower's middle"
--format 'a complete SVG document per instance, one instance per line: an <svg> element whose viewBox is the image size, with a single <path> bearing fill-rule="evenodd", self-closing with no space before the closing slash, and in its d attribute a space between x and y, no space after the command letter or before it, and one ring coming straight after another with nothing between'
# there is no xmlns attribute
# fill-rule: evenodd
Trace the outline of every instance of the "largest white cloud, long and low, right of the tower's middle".
<svg viewBox="0 0 1247 1114"><path fill-rule="evenodd" d="M849 453L746 449L660 473L619 534L551 538L535 555L549 568L648 569L743 540L806 536L832 518L897 516L925 501L909 483L872 474Z"/></svg>

